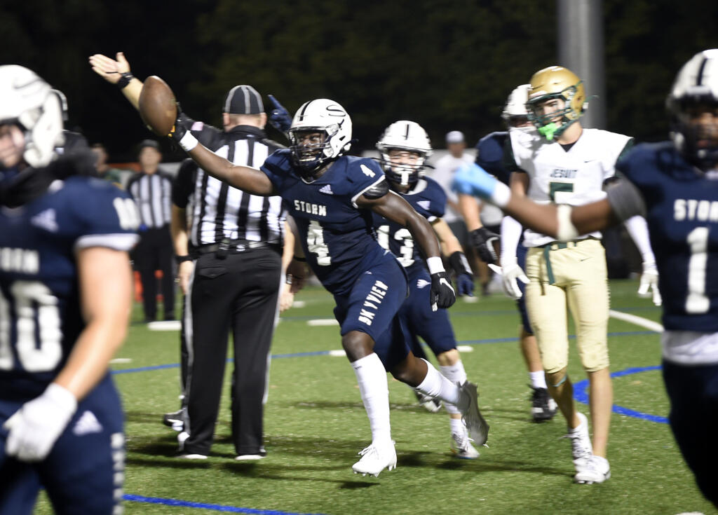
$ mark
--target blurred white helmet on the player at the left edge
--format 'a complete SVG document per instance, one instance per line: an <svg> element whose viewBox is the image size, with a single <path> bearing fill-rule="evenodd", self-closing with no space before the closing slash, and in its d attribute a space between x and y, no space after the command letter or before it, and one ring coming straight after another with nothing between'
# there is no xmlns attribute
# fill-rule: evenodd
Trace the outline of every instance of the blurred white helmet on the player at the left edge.
<svg viewBox="0 0 718 515"><path fill-rule="evenodd" d="M33 168L55 159L62 141L62 108L50 85L32 70L0 66L0 123L17 123L25 135L24 161Z"/></svg>

